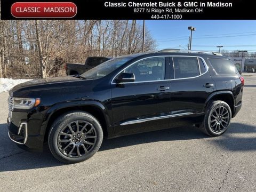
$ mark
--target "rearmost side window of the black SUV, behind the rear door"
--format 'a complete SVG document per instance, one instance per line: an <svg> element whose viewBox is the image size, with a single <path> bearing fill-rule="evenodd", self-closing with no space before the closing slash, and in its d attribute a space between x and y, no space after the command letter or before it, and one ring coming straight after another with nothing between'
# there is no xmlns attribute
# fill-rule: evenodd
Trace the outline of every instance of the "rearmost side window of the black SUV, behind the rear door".
<svg viewBox="0 0 256 192"><path fill-rule="evenodd" d="M222 75L235 75L236 67L233 62L228 59L213 59L210 58L209 61L217 74Z"/></svg>

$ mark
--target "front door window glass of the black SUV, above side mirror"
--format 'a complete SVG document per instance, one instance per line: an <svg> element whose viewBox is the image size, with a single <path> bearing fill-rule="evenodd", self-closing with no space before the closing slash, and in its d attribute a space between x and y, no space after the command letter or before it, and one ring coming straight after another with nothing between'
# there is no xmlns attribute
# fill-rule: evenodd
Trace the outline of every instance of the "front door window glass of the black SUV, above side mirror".
<svg viewBox="0 0 256 192"><path fill-rule="evenodd" d="M125 69L126 73L133 73L135 82L163 80L165 77L165 58L155 57L134 63Z"/></svg>

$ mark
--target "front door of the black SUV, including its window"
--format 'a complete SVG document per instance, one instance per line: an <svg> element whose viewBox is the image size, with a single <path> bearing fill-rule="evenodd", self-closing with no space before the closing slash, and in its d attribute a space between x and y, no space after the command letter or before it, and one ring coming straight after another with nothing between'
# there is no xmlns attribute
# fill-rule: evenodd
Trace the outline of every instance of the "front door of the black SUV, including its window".
<svg viewBox="0 0 256 192"><path fill-rule="evenodd" d="M168 57L139 60L123 72L135 82L111 84L111 106L116 136L169 127L171 83Z"/></svg>

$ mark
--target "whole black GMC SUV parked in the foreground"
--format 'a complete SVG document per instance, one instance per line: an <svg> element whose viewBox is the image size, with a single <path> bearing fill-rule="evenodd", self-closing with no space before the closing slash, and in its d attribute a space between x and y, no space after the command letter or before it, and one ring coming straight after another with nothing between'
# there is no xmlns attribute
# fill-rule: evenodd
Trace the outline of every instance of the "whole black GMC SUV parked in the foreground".
<svg viewBox="0 0 256 192"><path fill-rule="evenodd" d="M242 107L244 78L210 52L133 54L77 77L39 79L9 92L9 136L65 163L95 154L103 137L195 125L224 133Z"/></svg>

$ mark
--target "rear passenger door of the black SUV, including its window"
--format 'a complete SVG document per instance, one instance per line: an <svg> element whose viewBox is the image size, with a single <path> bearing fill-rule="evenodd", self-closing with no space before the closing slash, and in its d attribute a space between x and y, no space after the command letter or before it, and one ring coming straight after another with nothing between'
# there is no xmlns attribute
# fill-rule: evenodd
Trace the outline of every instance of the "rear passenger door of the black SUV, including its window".
<svg viewBox="0 0 256 192"><path fill-rule="evenodd" d="M170 126L200 122L205 101L216 90L208 67L200 57L172 57Z"/></svg>

